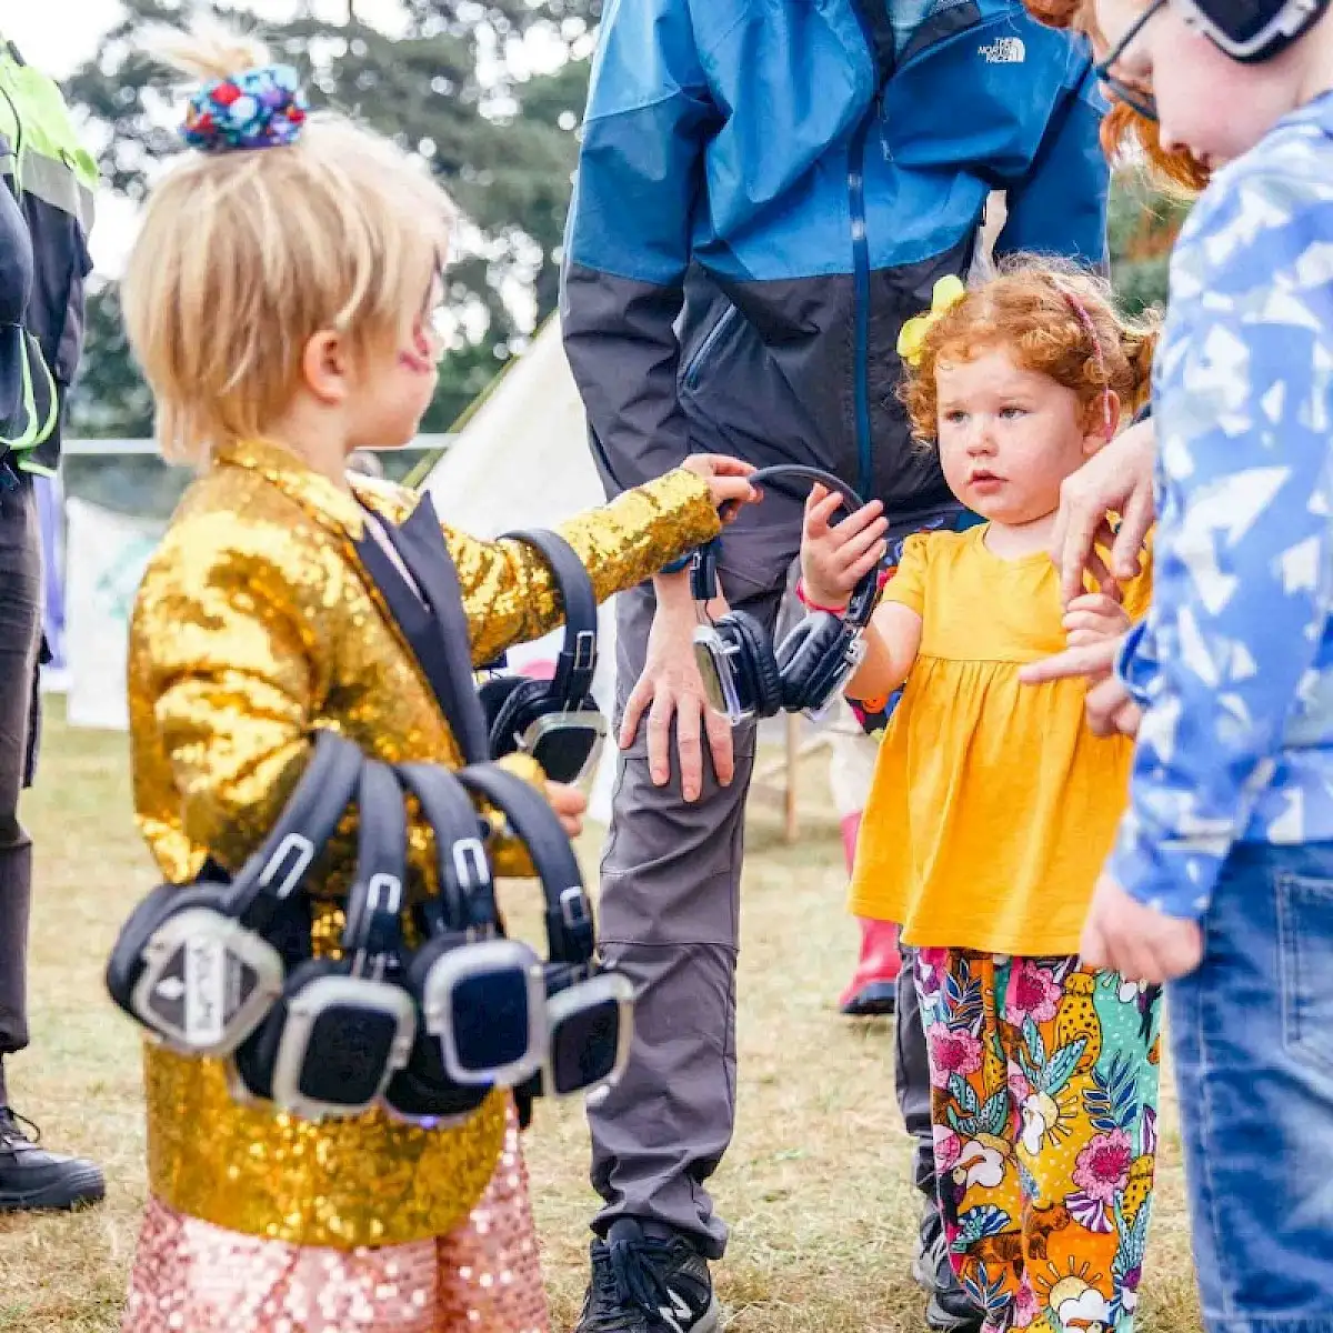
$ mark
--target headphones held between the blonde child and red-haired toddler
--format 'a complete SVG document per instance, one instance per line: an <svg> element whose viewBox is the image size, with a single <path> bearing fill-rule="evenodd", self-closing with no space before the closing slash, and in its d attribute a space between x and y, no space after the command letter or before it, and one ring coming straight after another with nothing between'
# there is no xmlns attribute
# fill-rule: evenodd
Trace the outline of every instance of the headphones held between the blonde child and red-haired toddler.
<svg viewBox="0 0 1333 1333"><path fill-rule="evenodd" d="M864 504L850 487L820 468L777 464L752 472L748 480L761 485L788 476L837 491L848 513ZM694 552L689 585L701 609L717 596L716 541ZM764 627L744 611L729 611L700 625L694 631L694 660L709 704L733 726L749 717L774 717L784 709L817 717L860 664L865 653L861 635L878 601L880 571L874 568L861 576L841 615L812 612L776 652Z"/></svg>

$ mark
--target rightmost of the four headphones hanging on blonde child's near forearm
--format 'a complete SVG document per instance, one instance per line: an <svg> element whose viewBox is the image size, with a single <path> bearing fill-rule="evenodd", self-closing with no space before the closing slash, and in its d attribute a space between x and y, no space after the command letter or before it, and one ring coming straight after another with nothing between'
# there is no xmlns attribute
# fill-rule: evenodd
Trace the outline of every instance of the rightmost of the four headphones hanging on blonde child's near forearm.
<svg viewBox="0 0 1333 1333"><path fill-rule="evenodd" d="M519 1092L604 1094L629 1060L635 990L596 958L592 902L579 858L555 810L528 782L495 764L465 768L459 781L505 817L528 848L545 897L548 1041L540 1082Z"/></svg>

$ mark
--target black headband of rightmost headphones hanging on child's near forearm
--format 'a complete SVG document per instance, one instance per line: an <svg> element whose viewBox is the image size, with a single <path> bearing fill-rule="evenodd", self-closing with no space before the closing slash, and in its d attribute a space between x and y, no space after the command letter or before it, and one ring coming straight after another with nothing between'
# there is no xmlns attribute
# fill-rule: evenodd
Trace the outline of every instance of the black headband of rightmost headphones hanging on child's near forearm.
<svg viewBox="0 0 1333 1333"><path fill-rule="evenodd" d="M521 777L495 764L475 764L459 773L468 790L497 806L528 848L547 900L547 949L552 962L592 961L592 905L579 858L556 812Z"/></svg>

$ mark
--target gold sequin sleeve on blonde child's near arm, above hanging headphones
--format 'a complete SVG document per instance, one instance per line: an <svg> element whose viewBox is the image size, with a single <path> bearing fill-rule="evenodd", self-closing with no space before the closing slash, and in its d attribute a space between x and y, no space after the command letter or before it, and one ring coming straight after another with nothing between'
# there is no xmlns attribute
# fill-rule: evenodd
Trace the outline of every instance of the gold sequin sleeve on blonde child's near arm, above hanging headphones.
<svg viewBox="0 0 1333 1333"><path fill-rule="evenodd" d="M235 516L168 536L144 576L131 627L137 728L151 726L171 765L179 826L141 820L159 861L173 841L208 848L235 869L264 837L309 753L321 692L315 628L297 612L293 572L339 571L281 559L283 532L248 532ZM136 734L137 741L137 734ZM136 782L140 777L136 764ZM145 802L136 805L144 810Z"/></svg>

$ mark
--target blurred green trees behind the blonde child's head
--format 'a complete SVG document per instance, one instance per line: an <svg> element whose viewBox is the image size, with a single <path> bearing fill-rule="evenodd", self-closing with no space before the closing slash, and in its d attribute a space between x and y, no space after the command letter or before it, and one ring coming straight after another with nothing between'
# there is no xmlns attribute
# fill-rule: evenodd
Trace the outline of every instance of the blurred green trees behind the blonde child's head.
<svg viewBox="0 0 1333 1333"><path fill-rule="evenodd" d="M264 25L263 36L301 71L313 107L348 112L420 155L471 224L469 251L449 273L460 332L425 421L441 431L521 344L528 312L540 320L555 308L589 35L601 5L399 0L397 8L392 33L364 21L349 0L340 23L304 4L291 21ZM215 4L212 12L257 27L247 9ZM144 56L141 37L148 25L179 24L183 15L171 0L125 0L124 20L67 85L69 100L105 132L107 184L132 200L144 197L153 163L181 148L168 113L172 76ZM541 47L565 63L523 77L525 57ZM93 296L75 403L89 428L143 420L117 312L113 287Z"/></svg>

